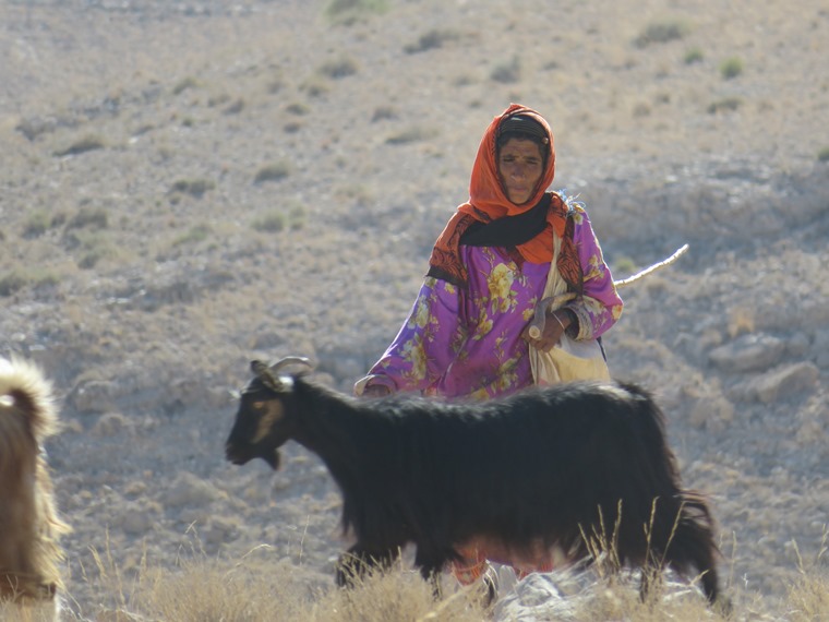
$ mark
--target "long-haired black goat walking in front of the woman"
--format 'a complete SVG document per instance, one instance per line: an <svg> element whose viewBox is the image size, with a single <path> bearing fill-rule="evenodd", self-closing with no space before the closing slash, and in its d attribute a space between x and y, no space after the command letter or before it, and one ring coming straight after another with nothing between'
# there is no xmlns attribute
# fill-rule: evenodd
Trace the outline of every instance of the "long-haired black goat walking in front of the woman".
<svg viewBox="0 0 829 622"><path fill-rule="evenodd" d="M485 542L522 560L611 552L618 566L642 569L642 594L653 572L696 569L717 600L711 513L681 488L663 416L641 388L581 382L485 403L358 399L279 375L302 361L253 361L226 455L276 469L292 439L323 459L357 540L340 558L340 585L408 543L434 578L460 547Z"/></svg>

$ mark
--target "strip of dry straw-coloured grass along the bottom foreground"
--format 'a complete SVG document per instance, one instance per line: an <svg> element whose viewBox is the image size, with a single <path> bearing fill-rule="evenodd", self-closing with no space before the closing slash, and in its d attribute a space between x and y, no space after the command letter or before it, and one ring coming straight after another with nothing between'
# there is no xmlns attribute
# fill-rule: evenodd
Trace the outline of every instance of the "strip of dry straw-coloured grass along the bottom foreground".
<svg viewBox="0 0 829 622"><path fill-rule="evenodd" d="M516 620L516 608L486 609L476 586L454 587L444 577L444 597L434 600L431 586L410 569L397 565L362 579L353 590L316 586L301 565L275 561L271 547L262 546L237 561L209 558L192 551L178 567L152 566L142 560L137 570L122 573L110 553L96 554L97 576L87 578L98 595L95 611L63 611L63 619L77 622L480 622ZM503 573L504 571L502 571ZM128 578L130 574L132 578ZM585 576L589 576L586 584ZM693 586L665 583L654 598L642 602L634 575L556 573L553 581L566 586L580 582L579 591L550 597L544 603L527 599L525 615L532 620L596 622L700 622L701 620L818 622L829 619L829 576L826 567L804 569L801 581L790 586L789 598L778 611L759 605L759 595L738 593L730 614L709 608ZM529 579L526 579L529 581ZM453 585L449 585L449 584ZM520 587L520 586L519 586ZM508 590L502 596L514 598ZM541 613L543 612L543 613ZM2 620L40 622L39 612L23 615L7 607ZM15 617L16 615L16 617ZM25 617L29 615L29 617ZM32 617L34 615L34 617ZM37 617L41 615L41 617ZM542 615L542 617L539 617ZM550 615L548 618L548 615ZM525 619L525 618L521 618Z"/></svg>

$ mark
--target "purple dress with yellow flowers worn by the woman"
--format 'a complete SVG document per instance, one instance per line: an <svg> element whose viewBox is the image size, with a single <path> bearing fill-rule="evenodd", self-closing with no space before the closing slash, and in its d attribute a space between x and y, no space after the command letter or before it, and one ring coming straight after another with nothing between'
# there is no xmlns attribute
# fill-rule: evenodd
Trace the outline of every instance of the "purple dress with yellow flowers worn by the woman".
<svg viewBox="0 0 829 622"><path fill-rule="evenodd" d="M566 307L578 318L577 338L589 339L618 320L623 303L587 213L570 204L585 278L584 296ZM408 320L358 386L486 399L532 384L521 333L543 295L550 264L518 265L498 247L464 246L460 252L468 288L426 277Z"/></svg>

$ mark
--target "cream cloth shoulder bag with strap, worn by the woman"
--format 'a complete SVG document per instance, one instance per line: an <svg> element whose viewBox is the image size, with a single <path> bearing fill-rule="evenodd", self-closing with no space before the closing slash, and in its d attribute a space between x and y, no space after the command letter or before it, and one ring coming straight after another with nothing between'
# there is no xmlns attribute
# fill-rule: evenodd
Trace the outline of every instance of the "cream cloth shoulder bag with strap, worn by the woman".
<svg viewBox="0 0 829 622"><path fill-rule="evenodd" d="M561 251L562 240L553 234L553 261L544 287L545 298L553 298L550 311L561 308L570 296L567 294L567 283L558 274L556 260ZM574 339L566 333L561 342L549 352L530 346L530 368L536 384L557 384L574 380L610 380L610 370L602 355L602 348L596 339Z"/></svg>

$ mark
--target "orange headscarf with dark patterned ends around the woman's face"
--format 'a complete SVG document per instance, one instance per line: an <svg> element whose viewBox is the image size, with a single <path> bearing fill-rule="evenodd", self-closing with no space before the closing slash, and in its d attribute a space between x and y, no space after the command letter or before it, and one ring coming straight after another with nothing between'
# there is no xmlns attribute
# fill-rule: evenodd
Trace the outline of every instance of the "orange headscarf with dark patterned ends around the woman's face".
<svg viewBox="0 0 829 622"><path fill-rule="evenodd" d="M504 119L521 115L538 121L546 131L550 139L545 157L546 168L539 180L534 193L527 203L516 205L506 195L498 176L496 160L496 141L498 125ZM491 223L506 216L517 216L531 210L553 182L555 177L555 148L553 132L546 120L536 110L510 104L501 115L495 117L481 139L478 155L472 166L469 182L469 201L458 206L443 232L437 238L432 256L429 260L430 274L441 276L456 284L466 283L466 268L460 263L459 241L464 231L474 222ZM553 259L553 231L565 238L567 207L556 194L552 195L552 204L546 215L546 227L531 240L518 244L515 250L521 259L530 263L545 263ZM570 258L572 259L572 258Z"/></svg>

